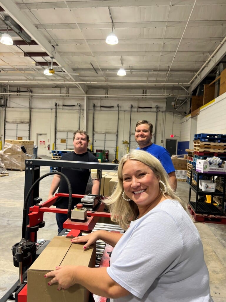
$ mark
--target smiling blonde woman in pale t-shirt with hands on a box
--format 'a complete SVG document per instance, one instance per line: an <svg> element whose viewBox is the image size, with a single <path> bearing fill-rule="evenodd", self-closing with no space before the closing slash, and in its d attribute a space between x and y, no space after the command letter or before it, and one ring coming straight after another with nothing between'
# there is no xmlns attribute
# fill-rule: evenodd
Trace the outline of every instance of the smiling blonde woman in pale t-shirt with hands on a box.
<svg viewBox="0 0 226 302"><path fill-rule="evenodd" d="M110 266L59 267L46 274L58 290L75 283L119 302L212 302L202 242L187 204L171 189L158 159L133 150L118 166L118 185L106 200L124 234L96 231L71 239L102 239L114 247Z"/></svg>

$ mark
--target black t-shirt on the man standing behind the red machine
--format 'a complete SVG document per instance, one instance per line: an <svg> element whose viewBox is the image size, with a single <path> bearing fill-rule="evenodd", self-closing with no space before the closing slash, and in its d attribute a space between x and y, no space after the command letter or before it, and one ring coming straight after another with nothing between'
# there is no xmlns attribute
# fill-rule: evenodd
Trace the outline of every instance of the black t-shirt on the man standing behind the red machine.
<svg viewBox="0 0 226 302"><path fill-rule="evenodd" d="M70 160L77 162L99 162L98 159L89 152L76 154L74 153L74 151L62 155L61 160ZM85 194L86 185L90 175L89 169L58 167L57 171L63 173L69 179L71 183L72 194ZM68 193L67 182L63 176L61 176L58 193ZM80 198L72 198L71 208L73 209L74 206L80 201ZM61 209L67 209L68 198L58 197L54 205Z"/></svg>

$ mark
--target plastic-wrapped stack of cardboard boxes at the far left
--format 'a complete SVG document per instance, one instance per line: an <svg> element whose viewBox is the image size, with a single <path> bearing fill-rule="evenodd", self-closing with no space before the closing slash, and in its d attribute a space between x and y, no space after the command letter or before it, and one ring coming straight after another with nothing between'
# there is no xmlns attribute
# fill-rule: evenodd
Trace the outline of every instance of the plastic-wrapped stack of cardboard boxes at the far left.
<svg viewBox="0 0 226 302"><path fill-rule="evenodd" d="M23 153L21 146L25 147L28 154L33 154L33 140L5 140L1 159L6 169L25 170L25 159L29 159L29 156Z"/></svg>

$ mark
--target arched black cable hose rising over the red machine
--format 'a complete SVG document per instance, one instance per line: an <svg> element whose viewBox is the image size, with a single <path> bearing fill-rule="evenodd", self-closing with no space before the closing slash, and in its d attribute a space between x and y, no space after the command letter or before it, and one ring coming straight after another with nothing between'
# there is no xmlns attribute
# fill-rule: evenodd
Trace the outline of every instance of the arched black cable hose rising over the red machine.
<svg viewBox="0 0 226 302"><path fill-rule="evenodd" d="M68 212L67 212L67 217L71 218L71 204L72 204L72 190L71 190L71 183L69 181L69 179L67 178L66 175L64 175L61 172L49 172L46 173L44 175L42 175L41 177L39 177L34 183L33 185L30 187L30 190L27 193L27 196L24 200L24 209L23 209L23 225L22 225L22 238L25 238L25 233L26 233L26 216L27 216L27 203L28 203L28 199L30 197L31 192L33 191L34 186L40 182L40 180L42 180L43 178L45 178L46 176L49 175L53 175L53 174L57 174L60 176L63 176L67 182L67 186L68 186L68 193L69 193L69 201L68 201Z"/></svg>

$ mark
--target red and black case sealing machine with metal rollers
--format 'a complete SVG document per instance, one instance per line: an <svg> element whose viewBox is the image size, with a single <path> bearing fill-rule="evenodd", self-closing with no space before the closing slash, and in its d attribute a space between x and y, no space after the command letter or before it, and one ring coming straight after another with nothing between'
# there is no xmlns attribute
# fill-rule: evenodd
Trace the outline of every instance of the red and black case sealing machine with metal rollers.
<svg viewBox="0 0 226 302"><path fill-rule="evenodd" d="M23 150L23 148L21 148ZM26 150L25 150L26 152ZM93 162L72 162L61 161L61 167L67 168L83 168L83 169L97 169L99 170L99 179L101 182L101 170L117 170L118 164L109 163L93 163ZM23 209L23 223L22 223L22 239L19 243L14 244L13 250L13 262L14 266L19 268L19 280L11 287L10 290L1 298L0 302L27 302L27 269L35 261L38 255L46 247L49 242L42 242L37 249L37 232L39 228L45 226L43 215L45 212L62 213L67 214L68 219L64 222L64 230L59 236L80 236L82 232L90 233L96 226L99 217L110 217L110 213L104 212L105 205L101 202L102 196L89 197L93 200L93 204L89 204L89 210L87 210L86 221L71 221L71 198L82 198L87 201L87 195L77 195L70 193L70 183L68 184L69 194L56 193L55 196L42 204L42 198L39 197L39 182L41 179L48 175L59 174L60 172L50 172L40 177L41 166L52 166L52 160L35 159L31 156L31 159L25 160L25 181L24 181L24 209ZM64 176L64 175L61 175ZM65 177L65 176L64 176ZM67 178L67 177L66 177ZM68 178L66 179L67 182ZM71 195L71 196L70 196ZM58 196L68 196L69 209L56 209L51 206L55 203ZM89 195L88 195L89 196ZM82 202L81 202L82 203ZM83 205L85 207L85 205ZM110 227L109 227L110 226ZM107 226L108 230L111 230L111 225ZM102 228L102 224L97 226L97 229ZM69 230L68 230L69 229ZM68 231L68 232L67 232ZM113 227L113 231L121 232L122 229L119 226ZM109 265L109 251L110 246L106 245L102 254L97 255L99 266ZM112 248L111 248L112 249ZM98 266L96 265L96 266ZM91 300L95 302L106 302L106 298L99 297L97 295L91 295Z"/></svg>

